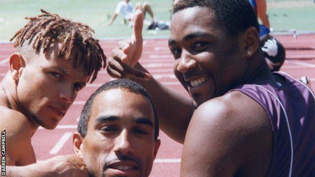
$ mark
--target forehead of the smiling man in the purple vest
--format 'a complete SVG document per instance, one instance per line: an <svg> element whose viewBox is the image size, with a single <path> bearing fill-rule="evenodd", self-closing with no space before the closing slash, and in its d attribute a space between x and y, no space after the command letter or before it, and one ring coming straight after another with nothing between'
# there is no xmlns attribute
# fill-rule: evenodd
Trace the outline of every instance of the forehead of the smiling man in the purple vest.
<svg viewBox="0 0 315 177"><path fill-rule="evenodd" d="M216 21L214 11L208 7L193 7L176 12L171 21L170 38L176 39L194 32L222 35L225 28Z"/></svg>

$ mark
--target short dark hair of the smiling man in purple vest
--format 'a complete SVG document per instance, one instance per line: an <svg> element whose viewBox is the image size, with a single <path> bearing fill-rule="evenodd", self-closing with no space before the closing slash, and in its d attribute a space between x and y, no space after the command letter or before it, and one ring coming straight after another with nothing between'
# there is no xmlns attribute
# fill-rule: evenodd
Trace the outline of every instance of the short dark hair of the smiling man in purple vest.
<svg viewBox="0 0 315 177"><path fill-rule="evenodd" d="M216 20L227 28L230 36L236 36L251 26L259 32L256 15L248 0L180 0L173 13L197 6L211 8Z"/></svg>

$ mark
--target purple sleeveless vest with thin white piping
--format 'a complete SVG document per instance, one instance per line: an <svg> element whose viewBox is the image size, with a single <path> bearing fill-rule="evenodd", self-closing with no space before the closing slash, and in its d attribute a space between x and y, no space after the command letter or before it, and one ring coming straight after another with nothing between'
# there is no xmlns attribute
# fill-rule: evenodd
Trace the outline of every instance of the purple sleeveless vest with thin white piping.
<svg viewBox="0 0 315 177"><path fill-rule="evenodd" d="M264 107L273 129L273 155L266 176L314 176L315 97L304 84L283 72L285 85L240 85L240 91ZM229 92L231 92L229 91Z"/></svg>

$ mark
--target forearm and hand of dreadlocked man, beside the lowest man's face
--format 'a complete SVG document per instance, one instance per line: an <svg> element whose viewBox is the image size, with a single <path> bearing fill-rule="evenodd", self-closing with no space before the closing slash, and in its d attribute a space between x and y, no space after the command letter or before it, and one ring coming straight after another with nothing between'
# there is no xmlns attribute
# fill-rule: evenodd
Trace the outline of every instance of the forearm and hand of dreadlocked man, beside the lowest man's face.
<svg viewBox="0 0 315 177"><path fill-rule="evenodd" d="M7 176L89 176L82 159L76 155L57 156L27 166L7 166Z"/></svg>

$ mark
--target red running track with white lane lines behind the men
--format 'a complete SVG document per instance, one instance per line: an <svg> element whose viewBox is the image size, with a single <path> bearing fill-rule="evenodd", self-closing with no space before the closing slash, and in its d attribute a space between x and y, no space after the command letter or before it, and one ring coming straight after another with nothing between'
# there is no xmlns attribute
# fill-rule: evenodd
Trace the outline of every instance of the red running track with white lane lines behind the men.
<svg viewBox="0 0 315 177"><path fill-rule="evenodd" d="M295 78L308 76L311 88L315 90L315 35L276 36L286 48L287 60L281 71ZM144 52L140 63L160 82L175 89L183 96L186 91L175 78L172 65L173 58L167 45L167 39L148 39L144 41ZM116 46L116 40L101 41L101 46L107 56ZM7 59L15 51L13 45L0 44L0 79L8 71ZM77 119L83 104L88 97L102 84L111 78L105 70L98 74L93 84L88 84L77 96L59 126L52 131L38 129L32 138L32 144L37 160L44 160L56 155L73 154L72 132L76 131ZM163 132L159 137L162 141L159 153L153 165L150 176L179 176L182 145L168 138Z"/></svg>

